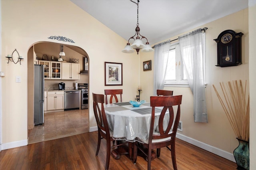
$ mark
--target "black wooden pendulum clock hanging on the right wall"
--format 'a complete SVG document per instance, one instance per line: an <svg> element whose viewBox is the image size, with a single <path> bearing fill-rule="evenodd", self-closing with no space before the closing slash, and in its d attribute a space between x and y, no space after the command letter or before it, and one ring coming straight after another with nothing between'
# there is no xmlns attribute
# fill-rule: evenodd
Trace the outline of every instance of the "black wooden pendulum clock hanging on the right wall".
<svg viewBox="0 0 256 170"><path fill-rule="evenodd" d="M217 43L216 66L228 67L242 64L242 32L236 33L233 30L225 30L214 39Z"/></svg>

